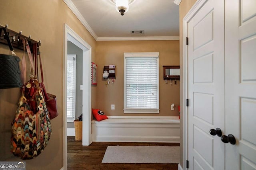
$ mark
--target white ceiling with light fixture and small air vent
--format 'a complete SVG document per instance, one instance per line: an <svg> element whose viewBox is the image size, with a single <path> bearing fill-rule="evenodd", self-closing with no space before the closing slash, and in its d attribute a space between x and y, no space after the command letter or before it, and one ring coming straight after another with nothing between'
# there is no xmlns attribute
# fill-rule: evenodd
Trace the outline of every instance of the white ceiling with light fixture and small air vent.
<svg viewBox="0 0 256 170"><path fill-rule="evenodd" d="M177 0L176 0L177 1ZM64 0L96 40L178 39L174 0L135 0L121 16L111 0ZM144 30L132 35L131 30Z"/></svg>

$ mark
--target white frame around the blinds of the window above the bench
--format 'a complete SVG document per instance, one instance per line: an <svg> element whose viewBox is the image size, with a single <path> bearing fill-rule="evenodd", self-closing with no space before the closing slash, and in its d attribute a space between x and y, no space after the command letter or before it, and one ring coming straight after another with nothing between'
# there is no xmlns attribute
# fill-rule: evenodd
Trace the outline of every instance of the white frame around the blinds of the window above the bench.
<svg viewBox="0 0 256 170"><path fill-rule="evenodd" d="M128 57L156 57L157 72L157 108L127 108L126 107L126 58ZM124 53L124 113L159 113L159 52L150 53Z"/></svg>

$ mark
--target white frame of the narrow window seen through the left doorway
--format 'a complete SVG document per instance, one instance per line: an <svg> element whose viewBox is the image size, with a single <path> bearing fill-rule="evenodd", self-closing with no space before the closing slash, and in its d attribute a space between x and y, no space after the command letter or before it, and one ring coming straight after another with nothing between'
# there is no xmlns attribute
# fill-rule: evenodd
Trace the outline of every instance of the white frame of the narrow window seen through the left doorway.
<svg viewBox="0 0 256 170"><path fill-rule="evenodd" d="M69 58L72 57L75 59L74 62L74 67L73 67L73 88L74 88L74 96L73 96L73 114L72 114L72 118L68 117L68 92L67 92L67 103L66 103L66 107L67 107L67 122L73 122L76 119L76 55L68 55L67 56L67 64L68 61L70 60ZM67 70L67 74L68 74L68 70ZM67 81L68 81L68 76L67 76ZM67 90L68 90L68 86L67 86Z"/></svg>

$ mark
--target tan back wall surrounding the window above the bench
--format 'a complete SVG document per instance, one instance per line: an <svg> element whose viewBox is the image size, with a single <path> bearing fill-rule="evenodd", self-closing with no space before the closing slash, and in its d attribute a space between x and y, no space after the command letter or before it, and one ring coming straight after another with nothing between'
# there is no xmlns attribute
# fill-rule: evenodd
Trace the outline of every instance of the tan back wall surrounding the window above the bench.
<svg viewBox="0 0 256 170"><path fill-rule="evenodd" d="M124 114L124 53L159 52L159 114ZM179 65L179 41L97 41L96 61L98 64L97 108L111 116L178 116L180 82L165 84L163 65ZM105 85L102 79L104 65L116 65L116 81ZM176 108L171 111L171 104ZM111 110L115 104L115 110Z"/></svg>

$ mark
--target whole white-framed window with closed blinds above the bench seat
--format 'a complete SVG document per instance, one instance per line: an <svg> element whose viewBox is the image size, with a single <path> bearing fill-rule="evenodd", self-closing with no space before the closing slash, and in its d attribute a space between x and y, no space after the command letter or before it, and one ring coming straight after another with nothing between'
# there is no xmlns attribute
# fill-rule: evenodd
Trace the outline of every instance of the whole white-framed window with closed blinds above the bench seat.
<svg viewBox="0 0 256 170"><path fill-rule="evenodd" d="M159 53L124 53L124 113L159 113Z"/></svg>

